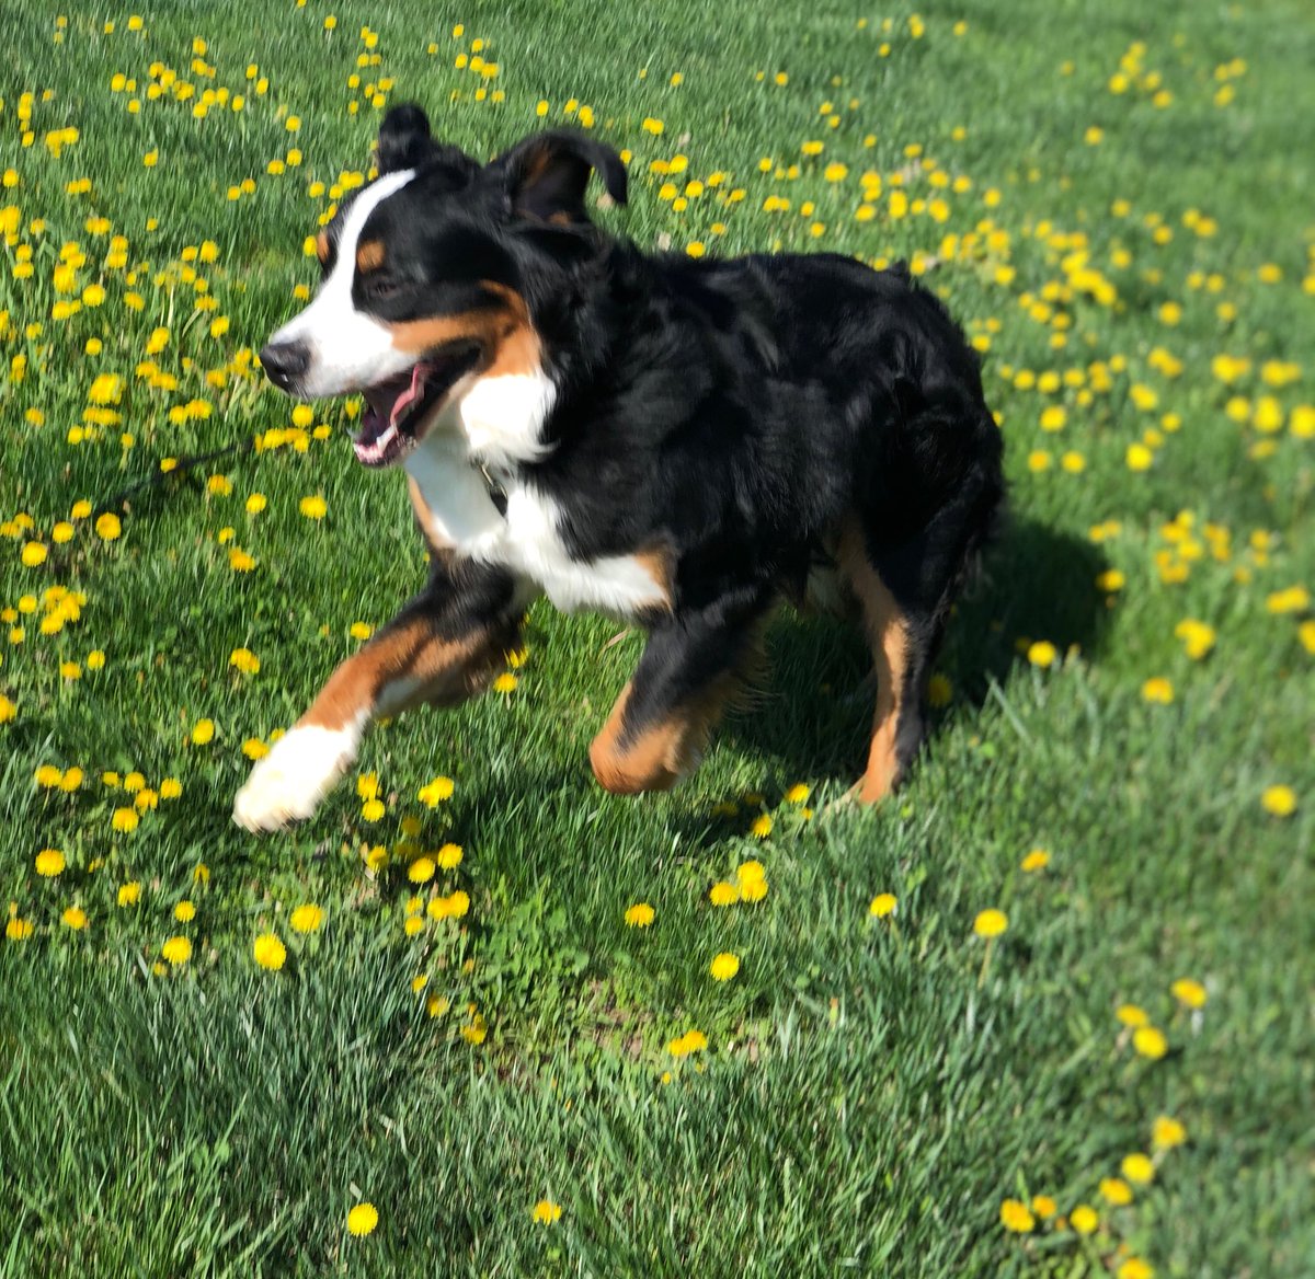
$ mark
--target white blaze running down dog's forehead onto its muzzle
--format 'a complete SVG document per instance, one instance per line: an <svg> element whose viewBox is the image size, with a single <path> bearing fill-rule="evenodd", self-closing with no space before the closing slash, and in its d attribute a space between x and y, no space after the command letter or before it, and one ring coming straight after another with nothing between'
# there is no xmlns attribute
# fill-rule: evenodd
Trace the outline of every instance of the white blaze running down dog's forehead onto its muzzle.
<svg viewBox="0 0 1315 1279"><path fill-rule="evenodd" d="M356 243L370 214L416 176L413 168L388 174L366 187L347 209L338 237L338 260L316 300L271 339L304 342L310 367L297 388L304 396L342 396L405 373L414 355L393 346L387 325L356 310L351 281L356 275Z"/></svg>

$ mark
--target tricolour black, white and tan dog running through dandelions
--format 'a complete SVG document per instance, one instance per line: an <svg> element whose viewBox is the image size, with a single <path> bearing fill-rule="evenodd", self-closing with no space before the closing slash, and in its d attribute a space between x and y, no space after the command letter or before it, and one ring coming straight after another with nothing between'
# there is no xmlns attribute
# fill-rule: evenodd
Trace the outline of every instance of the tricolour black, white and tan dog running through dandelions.
<svg viewBox="0 0 1315 1279"><path fill-rule="evenodd" d="M234 819L309 818L372 720L485 687L539 595L647 632L589 748L617 794L698 765L778 602L848 610L877 690L856 791L886 795L1003 497L977 354L939 300L830 254L642 252L589 218L590 176L625 204L626 168L573 130L481 166L397 106L376 166L260 364L300 398L363 393L356 457L405 471L429 582L255 765Z"/></svg>

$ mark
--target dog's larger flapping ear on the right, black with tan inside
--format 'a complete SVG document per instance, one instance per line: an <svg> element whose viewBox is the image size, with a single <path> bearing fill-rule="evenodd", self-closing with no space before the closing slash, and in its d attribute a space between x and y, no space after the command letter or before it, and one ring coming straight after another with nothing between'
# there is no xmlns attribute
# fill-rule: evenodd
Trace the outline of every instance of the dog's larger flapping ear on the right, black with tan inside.
<svg viewBox="0 0 1315 1279"><path fill-rule="evenodd" d="M608 195L626 202L621 156L573 129L552 129L518 142L489 166L506 187L512 212L539 222L586 222L584 192L594 170Z"/></svg>

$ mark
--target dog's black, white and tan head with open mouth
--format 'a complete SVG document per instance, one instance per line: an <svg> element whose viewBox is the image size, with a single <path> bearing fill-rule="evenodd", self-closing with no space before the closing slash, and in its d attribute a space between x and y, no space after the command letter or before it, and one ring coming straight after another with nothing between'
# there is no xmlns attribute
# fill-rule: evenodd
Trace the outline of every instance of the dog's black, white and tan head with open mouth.
<svg viewBox="0 0 1315 1279"><path fill-rule="evenodd" d="M626 200L621 156L585 134L534 134L481 166L435 142L418 106L384 117L377 167L316 238L314 300L260 352L289 394L364 392L356 456L376 467L479 379L539 369L522 233L586 223L593 170Z"/></svg>

